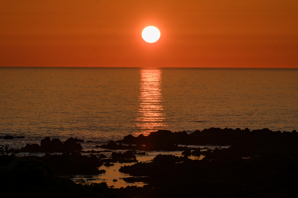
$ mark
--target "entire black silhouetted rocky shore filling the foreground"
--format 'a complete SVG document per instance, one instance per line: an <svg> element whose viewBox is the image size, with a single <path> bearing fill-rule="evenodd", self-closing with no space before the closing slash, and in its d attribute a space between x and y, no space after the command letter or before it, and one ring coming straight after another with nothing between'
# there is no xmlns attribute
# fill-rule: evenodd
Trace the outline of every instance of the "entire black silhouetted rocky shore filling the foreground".
<svg viewBox="0 0 298 198"><path fill-rule="evenodd" d="M46 142L49 145L53 140L46 140ZM97 167L103 164L111 165L122 160L134 161L135 155L145 153L113 152L111 157L106 158L107 156L103 154L94 155L93 153L98 153L96 151L89 151L91 153L89 156L82 156L80 152L83 153L83 151L72 151L62 155L47 153L43 157L17 158L15 154L9 155L6 146L1 148L0 157L0 185L5 189L4 196L52 197L60 194L64 197L104 195L106 197L172 198L297 197L298 194L298 133L295 130L291 133L282 133L269 129L250 131L249 129L210 128L202 132L196 131L193 135L159 130L150 133L147 137L126 136L123 141L118 142L146 145L143 151L153 148L171 150L177 148L175 144L178 143L230 144L231 146L214 150L204 148L204 151L200 148L178 147L183 151L184 156L157 155L149 163L139 162L131 166L123 166L119 171L132 176L123 178L125 181L148 184L144 187L128 186L120 189L109 188L105 183L76 184L56 175L78 174L76 172L80 171L89 171L86 174L102 174L104 170L98 173L92 170L95 170L94 168L98 170ZM44 145L46 144L41 142L41 146L38 145L39 149L46 148ZM119 144L110 141L107 145ZM57 147L53 146L53 148ZM68 150L67 147L63 149L63 151ZM97 156L100 155L99 159ZM191 160L188 159L188 155L205 155L205 157L202 160ZM21 192L24 193L21 194Z"/></svg>

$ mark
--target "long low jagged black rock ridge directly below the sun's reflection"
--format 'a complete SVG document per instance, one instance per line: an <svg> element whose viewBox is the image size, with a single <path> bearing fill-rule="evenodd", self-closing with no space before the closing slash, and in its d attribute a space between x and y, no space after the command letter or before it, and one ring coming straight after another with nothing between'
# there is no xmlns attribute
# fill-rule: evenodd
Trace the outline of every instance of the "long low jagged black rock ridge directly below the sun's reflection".
<svg viewBox="0 0 298 198"><path fill-rule="evenodd" d="M266 136L268 138L277 137L279 135L286 135L289 132L273 132L269 129L258 129L250 131L248 128L241 130L237 129L220 129L220 128L210 128L204 129L203 131L195 131L193 133L187 134L187 132L171 132L168 130L158 130L157 132L151 132L148 136L140 134L135 137L131 134L125 136L123 140L118 140L116 144L110 142L107 145L100 146L101 148L110 149L136 149L143 151L153 151L153 150L165 150L165 151L184 151L185 154L190 154L187 148L178 147L174 144L184 144L184 145L237 145L243 141L244 138L255 138ZM298 134L296 130L293 130L290 134ZM130 144L129 146L122 145L122 143ZM136 144L132 146L131 144ZM145 146L142 146L145 145Z"/></svg>

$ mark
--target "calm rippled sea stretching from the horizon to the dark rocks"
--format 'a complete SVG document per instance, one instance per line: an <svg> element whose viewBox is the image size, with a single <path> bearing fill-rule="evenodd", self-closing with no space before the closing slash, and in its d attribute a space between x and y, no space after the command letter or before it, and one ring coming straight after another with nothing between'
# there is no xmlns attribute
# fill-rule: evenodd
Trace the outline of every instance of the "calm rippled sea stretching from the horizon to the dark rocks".
<svg viewBox="0 0 298 198"><path fill-rule="evenodd" d="M10 142L17 147L158 129L298 130L297 77L298 69L0 67L0 136L25 136Z"/></svg>

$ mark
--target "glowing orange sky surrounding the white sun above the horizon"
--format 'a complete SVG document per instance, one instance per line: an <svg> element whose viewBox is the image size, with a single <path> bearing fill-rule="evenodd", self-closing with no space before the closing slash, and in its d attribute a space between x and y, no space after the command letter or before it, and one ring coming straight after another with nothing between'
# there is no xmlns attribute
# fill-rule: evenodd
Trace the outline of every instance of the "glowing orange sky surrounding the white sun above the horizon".
<svg viewBox="0 0 298 198"><path fill-rule="evenodd" d="M298 67L297 0L0 0L0 27L0 66Z"/></svg>

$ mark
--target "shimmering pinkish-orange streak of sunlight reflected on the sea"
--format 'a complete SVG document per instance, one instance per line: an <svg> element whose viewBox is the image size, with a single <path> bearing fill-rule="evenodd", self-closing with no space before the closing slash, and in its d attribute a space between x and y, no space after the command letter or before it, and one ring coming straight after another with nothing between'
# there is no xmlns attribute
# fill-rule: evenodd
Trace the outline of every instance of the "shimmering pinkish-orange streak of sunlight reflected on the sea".
<svg viewBox="0 0 298 198"><path fill-rule="evenodd" d="M135 134L148 135L167 126L162 107L161 70L158 68L141 69L140 108L136 126L140 128Z"/></svg>

